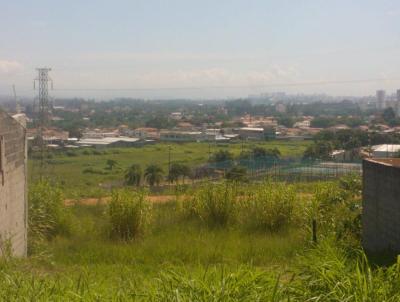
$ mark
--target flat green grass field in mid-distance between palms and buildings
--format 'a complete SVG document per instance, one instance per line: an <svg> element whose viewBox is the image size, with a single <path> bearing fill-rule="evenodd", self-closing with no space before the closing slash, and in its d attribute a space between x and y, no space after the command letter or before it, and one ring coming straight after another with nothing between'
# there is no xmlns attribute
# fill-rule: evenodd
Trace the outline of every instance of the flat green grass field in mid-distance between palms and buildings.
<svg viewBox="0 0 400 302"><path fill-rule="evenodd" d="M301 156L310 144L309 141L267 141L251 143L232 143L215 145L208 143L182 143L170 144L171 162L181 162L189 166L197 166L206 163L209 154L219 149L229 150L235 155L251 148L262 146L265 148L278 148L283 157ZM89 152L90 151L90 152ZM85 155L85 153L89 153ZM133 148L106 148L98 150L94 154L89 150L73 150L68 156L66 152L55 152L51 159L47 160L44 175L53 181L59 182L67 197L98 197L106 194L102 188L111 186L123 180L126 168L132 164L139 164L142 169L149 164L161 165L166 172L168 169L169 145L159 143L144 147ZM118 166L113 170L106 169L106 161L117 161ZM32 159L29 165L29 179L34 181L39 177L40 164ZM91 169L94 173L84 173Z"/></svg>

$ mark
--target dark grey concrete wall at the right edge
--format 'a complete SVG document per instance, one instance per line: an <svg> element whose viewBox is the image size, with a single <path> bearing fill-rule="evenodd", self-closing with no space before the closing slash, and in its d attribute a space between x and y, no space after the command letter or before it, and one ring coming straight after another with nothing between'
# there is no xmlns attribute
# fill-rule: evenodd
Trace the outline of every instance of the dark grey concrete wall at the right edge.
<svg viewBox="0 0 400 302"><path fill-rule="evenodd" d="M363 161L363 246L400 251L400 159Z"/></svg>

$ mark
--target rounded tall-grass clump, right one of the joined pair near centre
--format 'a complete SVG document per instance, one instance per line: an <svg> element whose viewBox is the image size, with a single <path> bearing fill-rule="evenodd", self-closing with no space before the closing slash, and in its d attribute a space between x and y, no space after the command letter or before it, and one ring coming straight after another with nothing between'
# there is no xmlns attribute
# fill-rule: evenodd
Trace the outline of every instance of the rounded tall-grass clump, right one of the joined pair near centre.
<svg viewBox="0 0 400 302"><path fill-rule="evenodd" d="M296 192L286 183L252 187L242 204L244 222L251 228L276 232L298 220Z"/></svg>

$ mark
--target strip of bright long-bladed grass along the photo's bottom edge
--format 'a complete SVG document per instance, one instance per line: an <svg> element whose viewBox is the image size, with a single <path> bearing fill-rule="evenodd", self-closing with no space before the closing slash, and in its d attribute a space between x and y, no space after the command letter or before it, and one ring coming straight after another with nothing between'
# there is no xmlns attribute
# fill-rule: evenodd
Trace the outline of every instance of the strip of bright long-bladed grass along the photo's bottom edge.
<svg viewBox="0 0 400 302"><path fill-rule="evenodd" d="M90 260L89 260L90 261ZM289 270L254 266L167 266L154 275L136 266L76 267L37 274L0 265L1 301L400 301L400 262L369 264L324 241Z"/></svg>

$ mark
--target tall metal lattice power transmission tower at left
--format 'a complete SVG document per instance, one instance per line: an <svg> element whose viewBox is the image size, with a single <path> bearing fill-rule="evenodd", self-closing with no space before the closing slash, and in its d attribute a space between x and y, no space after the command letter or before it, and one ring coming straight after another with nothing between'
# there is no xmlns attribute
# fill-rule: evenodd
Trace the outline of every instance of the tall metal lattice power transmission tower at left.
<svg viewBox="0 0 400 302"><path fill-rule="evenodd" d="M44 165L44 152L45 152L45 142L43 133L46 127L49 125L50 114L51 114L51 104L49 100L49 82L51 83L51 89L53 89L53 81L49 77L49 71L51 68L36 68L38 72L38 77L33 81L33 88L36 90L36 82L38 84L38 108L36 116L36 130L37 130L37 142L39 151L41 154L40 167L41 173L43 172Z"/></svg>

